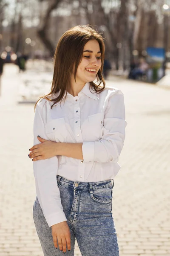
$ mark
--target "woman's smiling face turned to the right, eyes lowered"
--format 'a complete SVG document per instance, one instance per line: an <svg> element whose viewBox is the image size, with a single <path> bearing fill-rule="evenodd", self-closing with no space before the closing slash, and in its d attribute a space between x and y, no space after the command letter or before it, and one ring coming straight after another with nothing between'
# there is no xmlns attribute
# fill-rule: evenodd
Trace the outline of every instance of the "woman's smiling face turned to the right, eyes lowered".
<svg viewBox="0 0 170 256"><path fill-rule="evenodd" d="M98 41L90 40L83 49L82 60L79 63L76 73L76 82L91 82L102 65L101 52Z"/></svg>

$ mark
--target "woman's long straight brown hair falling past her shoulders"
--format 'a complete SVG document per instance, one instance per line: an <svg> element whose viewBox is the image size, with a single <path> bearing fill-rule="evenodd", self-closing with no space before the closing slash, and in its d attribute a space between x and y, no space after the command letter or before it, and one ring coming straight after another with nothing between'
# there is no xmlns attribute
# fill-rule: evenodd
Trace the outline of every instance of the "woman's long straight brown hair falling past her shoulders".
<svg viewBox="0 0 170 256"><path fill-rule="evenodd" d="M98 84L93 81L90 82L90 86L94 89L94 93L101 93L105 88L105 80L102 77L104 55L105 55L105 44L102 35L99 34L90 25L79 25L68 29L60 38L55 54L54 54L54 75L51 85L51 91L40 99L45 98L56 104L63 99L65 91L68 90L69 82L71 80L71 73L74 69L74 79L76 81L77 68L80 61L82 60L82 54L85 44L92 39L96 39L99 43L101 51L102 66L97 73ZM103 83L101 87L100 84ZM51 95L58 93L57 98L49 99ZM40 100L39 99L39 100ZM39 100L37 102L39 102ZM35 107L37 105L35 104ZM54 105L53 104L53 105ZM53 107L51 106L51 108Z"/></svg>

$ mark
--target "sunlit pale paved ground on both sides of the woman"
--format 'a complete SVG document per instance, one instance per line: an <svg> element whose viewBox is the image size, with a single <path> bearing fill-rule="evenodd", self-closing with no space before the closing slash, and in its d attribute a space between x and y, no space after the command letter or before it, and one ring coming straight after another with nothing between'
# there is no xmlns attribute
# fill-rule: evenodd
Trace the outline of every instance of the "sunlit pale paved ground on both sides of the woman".
<svg viewBox="0 0 170 256"><path fill-rule="evenodd" d="M32 206L33 104L17 104L20 74L7 65L0 96L0 256L42 256ZM126 139L114 179L120 256L170 256L170 90L111 77L125 95ZM62 254L61 254L62 255ZM76 245L75 256L80 256Z"/></svg>

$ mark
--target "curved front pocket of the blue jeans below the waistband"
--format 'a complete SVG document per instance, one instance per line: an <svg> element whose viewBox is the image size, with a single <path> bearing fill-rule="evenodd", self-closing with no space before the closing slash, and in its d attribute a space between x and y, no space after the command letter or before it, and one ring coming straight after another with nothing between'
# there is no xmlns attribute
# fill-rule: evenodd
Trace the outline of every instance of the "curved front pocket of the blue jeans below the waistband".
<svg viewBox="0 0 170 256"><path fill-rule="evenodd" d="M111 204L112 202L112 188L101 188L93 189L93 192L90 192L90 197L95 202L100 204Z"/></svg>

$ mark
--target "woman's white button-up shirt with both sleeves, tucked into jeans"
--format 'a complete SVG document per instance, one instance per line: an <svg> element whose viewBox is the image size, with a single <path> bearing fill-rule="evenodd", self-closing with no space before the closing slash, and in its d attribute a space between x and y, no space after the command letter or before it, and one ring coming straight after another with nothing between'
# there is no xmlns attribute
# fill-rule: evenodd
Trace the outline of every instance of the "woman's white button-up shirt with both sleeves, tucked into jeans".
<svg viewBox="0 0 170 256"><path fill-rule="evenodd" d="M83 143L83 160L56 156L33 162L36 193L51 227L66 221L56 175L68 180L97 182L114 178L125 140L125 106L123 93L106 87L102 93L89 90L86 83L78 96L65 93L62 102L42 99L34 117L34 145L43 139L61 143ZM56 96L56 95L55 95ZM64 102L65 100L65 102ZM61 103L61 105L60 105Z"/></svg>

